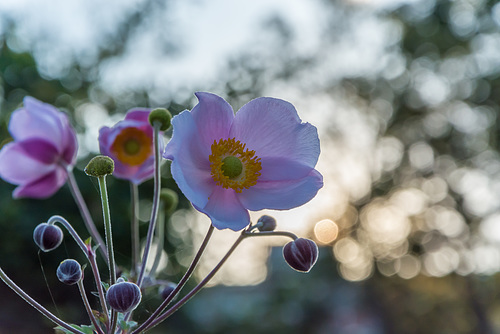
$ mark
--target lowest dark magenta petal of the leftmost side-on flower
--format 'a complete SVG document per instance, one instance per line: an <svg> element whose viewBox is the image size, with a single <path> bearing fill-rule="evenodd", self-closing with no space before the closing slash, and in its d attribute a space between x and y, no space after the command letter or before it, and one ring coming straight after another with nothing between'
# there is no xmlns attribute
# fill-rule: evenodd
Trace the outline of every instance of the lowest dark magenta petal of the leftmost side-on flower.
<svg viewBox="0 0 500 334"><path fill-rule="evenodd" d="M62 168L42 176L14 190L14 198L47 198L56 193L66 182L67 173Z"/></svg>

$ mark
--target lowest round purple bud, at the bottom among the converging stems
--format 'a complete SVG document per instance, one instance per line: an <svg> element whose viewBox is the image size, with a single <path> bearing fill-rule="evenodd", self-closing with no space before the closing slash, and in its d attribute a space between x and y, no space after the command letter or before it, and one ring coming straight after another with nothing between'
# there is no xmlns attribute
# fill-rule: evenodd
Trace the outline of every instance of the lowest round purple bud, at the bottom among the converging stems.
<svg viewBox="0 0 500 334"><path fill-rule="evenodd" d="M115 311L127 313L141 302L141 289L137 284L119 278L106 292L106 300Z"/></svg>

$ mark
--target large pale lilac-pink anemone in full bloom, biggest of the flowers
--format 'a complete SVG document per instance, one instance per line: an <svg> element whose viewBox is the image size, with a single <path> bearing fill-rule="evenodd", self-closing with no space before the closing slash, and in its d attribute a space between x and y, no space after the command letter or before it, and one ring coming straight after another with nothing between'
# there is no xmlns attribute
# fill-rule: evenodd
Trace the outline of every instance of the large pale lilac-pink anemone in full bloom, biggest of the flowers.
<svg viewBox="0 0 500 334"><path fill-rule="evenodd" d="M221 97L197 93L199 103L172 120L164 158L193 206L218 229L250 223L248 210L287 210L311 200L323 186L314 169L316 128L302 123L288 102L258 98L236 115Z"/></svg>

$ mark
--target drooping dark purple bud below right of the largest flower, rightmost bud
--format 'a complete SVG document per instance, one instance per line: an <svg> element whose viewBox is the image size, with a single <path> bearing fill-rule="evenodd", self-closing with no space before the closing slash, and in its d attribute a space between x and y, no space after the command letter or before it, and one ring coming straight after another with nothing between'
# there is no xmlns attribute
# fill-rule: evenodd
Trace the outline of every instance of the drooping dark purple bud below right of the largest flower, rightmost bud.
<svg viewBox="0 0 500 334"><path fill-rule="evenodd" d="M318 259L318 246L312 240L298 238L283 247L283 257L290 267L307 273Z"/></svg>

